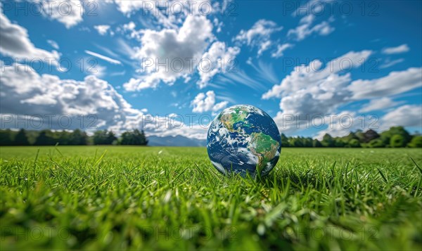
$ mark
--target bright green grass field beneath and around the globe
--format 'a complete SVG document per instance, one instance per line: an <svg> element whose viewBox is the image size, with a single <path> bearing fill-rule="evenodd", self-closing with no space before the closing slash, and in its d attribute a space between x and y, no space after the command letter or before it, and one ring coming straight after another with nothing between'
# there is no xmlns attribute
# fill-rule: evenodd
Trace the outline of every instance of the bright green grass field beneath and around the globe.
<svg viewBox="0 0 422 251"><path fill-rule="evenodd" d="M283 148L256 181L205 148L0 152L1 250L422 248L421 149Z"/></svg>

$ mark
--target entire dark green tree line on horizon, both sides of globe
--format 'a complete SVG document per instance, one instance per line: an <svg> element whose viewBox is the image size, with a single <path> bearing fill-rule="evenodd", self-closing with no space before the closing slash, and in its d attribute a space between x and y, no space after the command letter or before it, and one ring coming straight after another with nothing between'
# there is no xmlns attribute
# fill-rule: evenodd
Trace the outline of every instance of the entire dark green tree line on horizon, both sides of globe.
<svg viewBox="0 0 422 251"><path fill-rule="evenodd" d="M146 146L148 140L138 129L125 131L117 137L113 131L95 131L88 136L85 131L31 131L20 129L0 130L0 146L83 146L83 145L134 145ZM325 134L321 141L310 137L288 137L281 134L282 147L331 147L331 148L421 148L422 136L411 135L404 127L391 127L378 134L376 131L352 131L347 136L333 137Z"/></svg>

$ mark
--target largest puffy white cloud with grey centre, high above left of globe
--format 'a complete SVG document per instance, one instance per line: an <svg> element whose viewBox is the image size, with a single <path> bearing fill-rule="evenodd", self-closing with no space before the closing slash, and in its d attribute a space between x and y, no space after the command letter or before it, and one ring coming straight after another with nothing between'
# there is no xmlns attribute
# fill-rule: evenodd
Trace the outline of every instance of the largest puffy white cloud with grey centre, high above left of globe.
<svg viewBox="0 0 422 251"><path fill-rule="evenodd" d="M143 30L141 46L134 58L142 60L144 75L124 84L127 91L155 88L160 82L174 82L193 73L214 39L212 24L205 16L188 16L179 29ZM160 66L164 63L165 66Z"/></svg>

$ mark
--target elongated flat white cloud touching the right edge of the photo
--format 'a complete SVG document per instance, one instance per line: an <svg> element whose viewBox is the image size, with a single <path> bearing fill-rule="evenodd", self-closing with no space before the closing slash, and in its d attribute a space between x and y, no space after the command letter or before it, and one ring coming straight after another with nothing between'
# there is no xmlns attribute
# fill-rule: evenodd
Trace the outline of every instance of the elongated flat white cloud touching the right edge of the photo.
<svg viewBox="0 0 422 251"><path fill-rule="evenodd" d="M422 68L411 67L401 72L390 72L388 76L379 79L358 79L348 89L354 99L381 98L401 94L422 86Z"/></svg>

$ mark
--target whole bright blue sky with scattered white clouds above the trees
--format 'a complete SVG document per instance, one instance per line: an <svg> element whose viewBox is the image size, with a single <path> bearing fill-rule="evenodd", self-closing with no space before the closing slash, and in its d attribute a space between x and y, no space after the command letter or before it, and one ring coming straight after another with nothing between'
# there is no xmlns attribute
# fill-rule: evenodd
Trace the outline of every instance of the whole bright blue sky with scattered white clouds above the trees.
<svg viewBox="0 0 422 251"><path fill-rule="evenodd" d="M230 105L287 135L422 126L421 1L1 1L1 127L204 139Z"/></svg>

